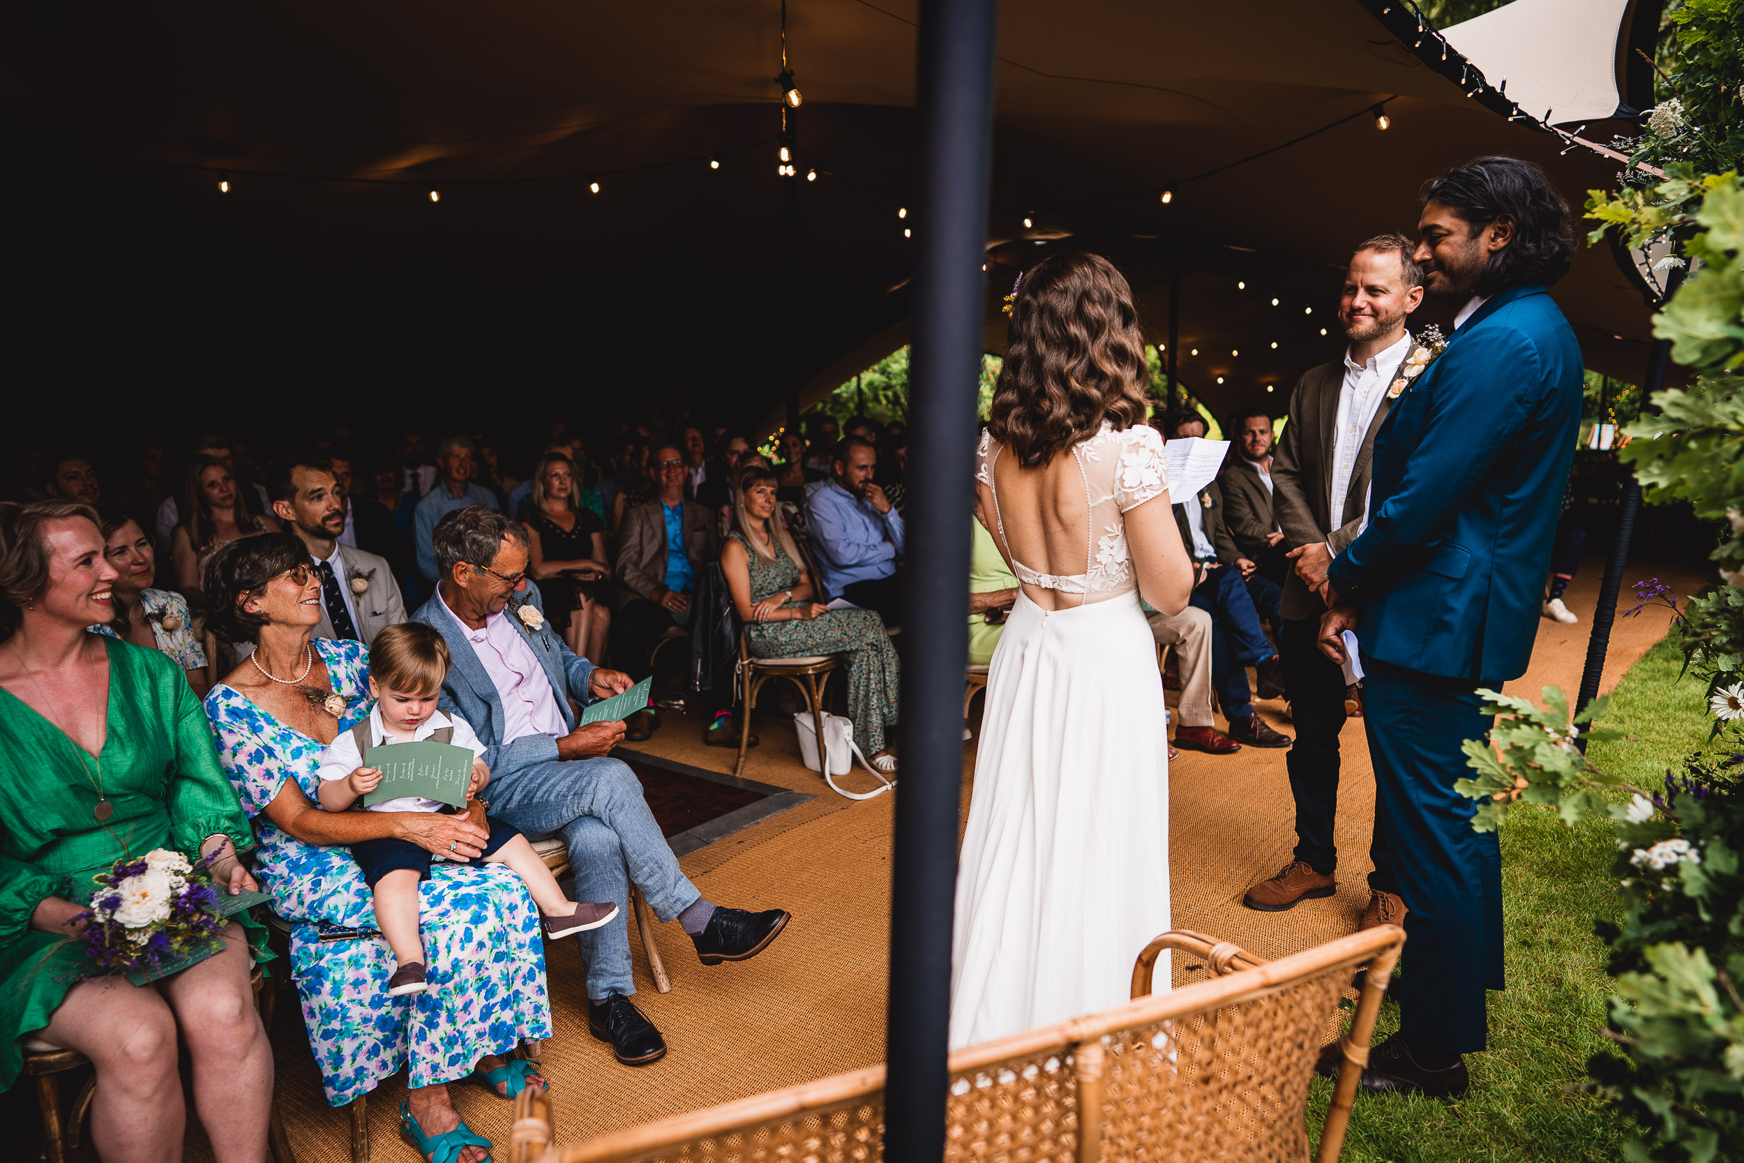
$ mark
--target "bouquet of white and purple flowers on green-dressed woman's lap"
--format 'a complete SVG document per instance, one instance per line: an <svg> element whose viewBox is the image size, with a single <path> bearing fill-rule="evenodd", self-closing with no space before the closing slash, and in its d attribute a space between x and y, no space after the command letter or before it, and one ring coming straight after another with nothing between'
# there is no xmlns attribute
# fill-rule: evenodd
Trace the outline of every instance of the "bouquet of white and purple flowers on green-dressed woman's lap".
<svg viewBox="0 0 1744 1163"><path fill-rule="evenodd" d="M75 917L85 922L94 975L153 980L223 949L223 910L208 865L159 847L98 874L91 908Z"/></svg>

